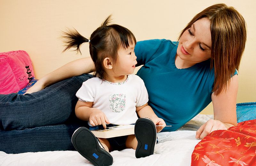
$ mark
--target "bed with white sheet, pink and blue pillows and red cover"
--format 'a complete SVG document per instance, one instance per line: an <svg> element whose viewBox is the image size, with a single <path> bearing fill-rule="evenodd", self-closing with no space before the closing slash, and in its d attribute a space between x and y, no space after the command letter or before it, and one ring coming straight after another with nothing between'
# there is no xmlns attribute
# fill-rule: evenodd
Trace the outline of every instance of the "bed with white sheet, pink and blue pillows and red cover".
<svg viewBox="0 0 256 166"><path fill-rule="evenodd" d="M33 75L33 66L28 54L25 51L20 50L20 51L12 51L7 53L0 53L0 58L1 57L2 59L3 58L7 59L6 61L4 61L6 63L1 63L1 64L7 65L7 62L8 62L7 66L9 66L10 71L12 71L9 73L12 76L13 83L6 81L6 79L1 80L2 82L0 83L3 88L1 89L0 94L9 94L9 93L17 92L18 90L19 90L17 92L18 94L25 93L26 90L28 90L28 88L31 87L36 82L36 79L34 78L34 75ZM19 63L17 63L17 61L22 62L20 66L19 66ZM25 68L24 68L23 62L26 63ZM5 69L3 66L2 68ZM16 69L16 70L13 70L13 69ZM17 72L14 73L13 71L17 71ZM26 77L27 75L29 78L28 83L24 82L27 80L20 79L20 78L23 78L23 76ZM17 79L20 80L20 83L15 81ZM210 136L209 137L207 136L207 139L208 139L207 141L205 141L206 139L202 140L203 142L201 140L197 140L195 138L196 130L201 125L203 125L207 120L213 119L213 115L199 114L195 118L191 119L184 126L182 126L180 129L178 129L177 131L158 133L157 136L158 136L159 142L158 144L156 144L154 155L137 159L135 157L135 150L133 149L113 151L110 153L114 159L113 165L153 166L153 165L160 164L160 165L187 166L187 165L191 165L191 156L192 156L192 166L206 165L206 164L210 165L210 163L212 163L212 165L214 166L217 166L219 165L217 164L217 162L221 163L220 161L222 161L223 163L224 156L225 156L225 164L221 164L221 165L238 165L238 164L248 165L252 163L253 163L252 165L256 165L256 132L255 132L256 120L247 121L247 120L256 119L256 102L238 103L236 105L236 113L237 113L237 121L241 122L241 126L238 126L240 128L237 128L237 129L236 127L234 127L233 131L229 131L229 132L233 132L231 133L232 135L223 137L222 133L219 133L218 135L218 132L223 132L223 131L217 131L215 132L215 138L213 134L209 134ZM244 121L247 121L247 122L243 124ZM254 123L254 126L252 126L252 123ZM246 125L248 127L248 124L249 124L249 128L247 130L244 130L244 133L241 132ZM247 135L244 135L244 134L247 134ZM251 141L249 141L250 140L249 137ZM240 141L240 138L241 138L241 141ZM221 142L224 142L224 146L227 148L225 149L222 148L222 151L221 151L222 153L220 153L217 146L212 148L213 142L216 143L216 145L217 144L219 145ZM232 149L230 148L231 145L229 143L234 144ZM204 147L202 146L202 144L204 145ZM206 148L208 149L206 149L203 152L202 147L205 149ZM217 151L215 150L215 148L217 149ZM241 151L242 148L244 148L245 151ZM234 155L235 150L237 150L236 157ZM244 156L241 157L241 153L243 153L244 155L245 152L247 153L246 161L244 160L246 157ZM245 162L243 162L241 158L243 158L243 160L248 164L245 164ZM199 164L198 162L201 162L201 163ZM47 152L35 152L35 153L29 152L29 153L20 153L20 154L6 154L5 152L0 151L0 166L12 166L12 165L15 165L15 166L16 165L19 165L19 166L83 165L85 166L85 165L92 165L92 164L76 151L47 151Z"/></svg>

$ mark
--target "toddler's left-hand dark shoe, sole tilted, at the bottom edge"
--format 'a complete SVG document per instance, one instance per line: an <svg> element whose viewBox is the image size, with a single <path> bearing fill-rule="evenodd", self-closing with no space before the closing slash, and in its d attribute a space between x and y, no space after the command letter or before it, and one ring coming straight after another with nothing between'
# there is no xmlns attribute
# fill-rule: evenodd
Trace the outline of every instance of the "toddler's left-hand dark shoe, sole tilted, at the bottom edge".
<svg viewBox="0 0 256 166"><path fill-rule="evenodd" d="M84 158L95 166L112 165L113 157L101 145L98 138L86 127L79 127L72 135L72 144Z"/></svg>

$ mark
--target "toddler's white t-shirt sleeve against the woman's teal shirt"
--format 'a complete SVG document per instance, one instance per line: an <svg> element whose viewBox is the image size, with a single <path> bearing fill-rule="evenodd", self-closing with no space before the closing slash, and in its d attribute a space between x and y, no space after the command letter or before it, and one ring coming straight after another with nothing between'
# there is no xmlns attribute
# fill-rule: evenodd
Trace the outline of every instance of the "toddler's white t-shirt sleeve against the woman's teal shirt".
<svg viewBox="0 0 256 166"><path fill-rule="evenodd" d="M137 77L139 77L139 76L137 76ZM148 103L148 91L145 87L145 84L140 77L139 77L138 82L140 84L140 86L138 86L138 87L140 87L140 88L139 88L139 92L138 92L138 96L137 96L136 107L140 107L140 106Z"/></svg>

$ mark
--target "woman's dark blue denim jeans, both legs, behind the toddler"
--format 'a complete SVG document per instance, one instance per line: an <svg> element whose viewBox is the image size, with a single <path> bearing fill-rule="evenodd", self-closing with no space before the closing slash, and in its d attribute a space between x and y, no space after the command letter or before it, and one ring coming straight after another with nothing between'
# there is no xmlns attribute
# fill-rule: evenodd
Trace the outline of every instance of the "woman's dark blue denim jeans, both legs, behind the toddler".
<svg viewBox="0 0 256 166"><path fill-rule="evenodd" d="M87 126L75 116L76 91L92 77L72 77L32 94L0 95L0 151L75 150L71 136Z"/></svg>

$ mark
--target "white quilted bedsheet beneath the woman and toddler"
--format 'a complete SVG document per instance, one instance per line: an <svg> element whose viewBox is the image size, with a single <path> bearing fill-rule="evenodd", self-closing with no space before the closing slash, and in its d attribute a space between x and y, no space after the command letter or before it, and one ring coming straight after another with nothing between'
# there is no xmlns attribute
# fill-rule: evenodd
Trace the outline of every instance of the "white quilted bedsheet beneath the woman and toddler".
<svg viewBox="0 0 256 166"><path fill-rule="evenodd" d="M113 166L175 165L189 166L196 144L196 130L212 115L197 115L178 131L158 133L155 154L137 159L135 150L113 151ZM192 130L192 131L191 131ZM194 131L193 131L194 130ZM86 166L92 165L76 151L48 151L36 153L6 154L0 151L0 166Z"/></svg>

